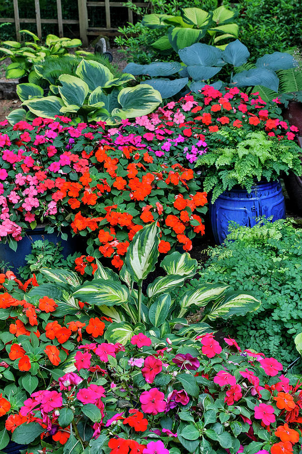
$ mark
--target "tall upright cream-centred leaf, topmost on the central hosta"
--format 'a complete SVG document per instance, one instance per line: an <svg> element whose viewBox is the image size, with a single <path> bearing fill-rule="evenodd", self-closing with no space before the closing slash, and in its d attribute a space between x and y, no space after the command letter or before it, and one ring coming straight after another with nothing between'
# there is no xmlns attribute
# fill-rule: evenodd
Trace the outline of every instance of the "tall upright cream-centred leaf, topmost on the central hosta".
<svg viewBox="0 0 302 454"><path fill-rule="evenodd" d="M154 271L159 256L160 228L156 222L138 231L128 247L125 264L135 282L145 279Z"/></svg>

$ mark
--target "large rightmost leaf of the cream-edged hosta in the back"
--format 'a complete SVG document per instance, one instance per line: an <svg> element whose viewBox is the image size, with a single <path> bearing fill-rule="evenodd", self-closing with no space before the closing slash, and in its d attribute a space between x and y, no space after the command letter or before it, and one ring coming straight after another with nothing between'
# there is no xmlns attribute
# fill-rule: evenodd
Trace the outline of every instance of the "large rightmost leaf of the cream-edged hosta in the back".
<svg viewBox="0 0 302 454"><path fill-rule="evenodd" d="M123 88L118 95L122 108L114 109L112 116L142 117L155 110L162 102L161 93L147 84Z"/></svg>

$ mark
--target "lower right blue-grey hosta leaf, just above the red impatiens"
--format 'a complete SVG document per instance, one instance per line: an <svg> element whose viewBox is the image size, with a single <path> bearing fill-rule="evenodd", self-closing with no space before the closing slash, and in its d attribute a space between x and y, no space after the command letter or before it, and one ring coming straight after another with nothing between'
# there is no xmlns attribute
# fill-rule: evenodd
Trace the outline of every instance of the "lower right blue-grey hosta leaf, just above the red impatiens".
<svg viewBox="0 0 302 454"><path fill-rule="evenodd" d="M239 87L250 87L253 85L263 85L278 92L279 79L275 73L263 68L255 68L235 74L233 83Z"/></svg>

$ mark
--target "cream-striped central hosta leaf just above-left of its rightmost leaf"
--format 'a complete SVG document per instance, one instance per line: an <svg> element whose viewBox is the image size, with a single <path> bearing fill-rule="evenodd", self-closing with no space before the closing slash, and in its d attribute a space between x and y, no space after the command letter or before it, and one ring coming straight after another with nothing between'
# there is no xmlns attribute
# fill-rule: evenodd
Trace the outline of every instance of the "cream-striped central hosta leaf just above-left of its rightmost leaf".
<svg viewBox="0 0 302 454"><path fill-rule="evenodd" d="M181 310L178 317L183 317L190 310L191 305L203 307L210 301L216 301L229 287L222 283L205 283L197 290L186 292L179 302Z"/></svg>

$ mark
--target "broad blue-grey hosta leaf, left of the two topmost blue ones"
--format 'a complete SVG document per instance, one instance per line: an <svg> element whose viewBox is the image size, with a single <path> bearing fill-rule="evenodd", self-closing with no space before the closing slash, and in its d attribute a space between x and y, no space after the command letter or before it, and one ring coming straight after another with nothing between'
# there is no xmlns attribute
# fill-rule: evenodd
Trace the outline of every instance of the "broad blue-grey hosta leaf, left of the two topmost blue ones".
<svg viewBox="0 0 302 454"><path fill-rule="evenodd" d="M216 65L217 60L221 58L222 51L217 49L217 47L196 42L189 47L180 49L178 54L181 61L187 66L214 66Z"/></svg>

